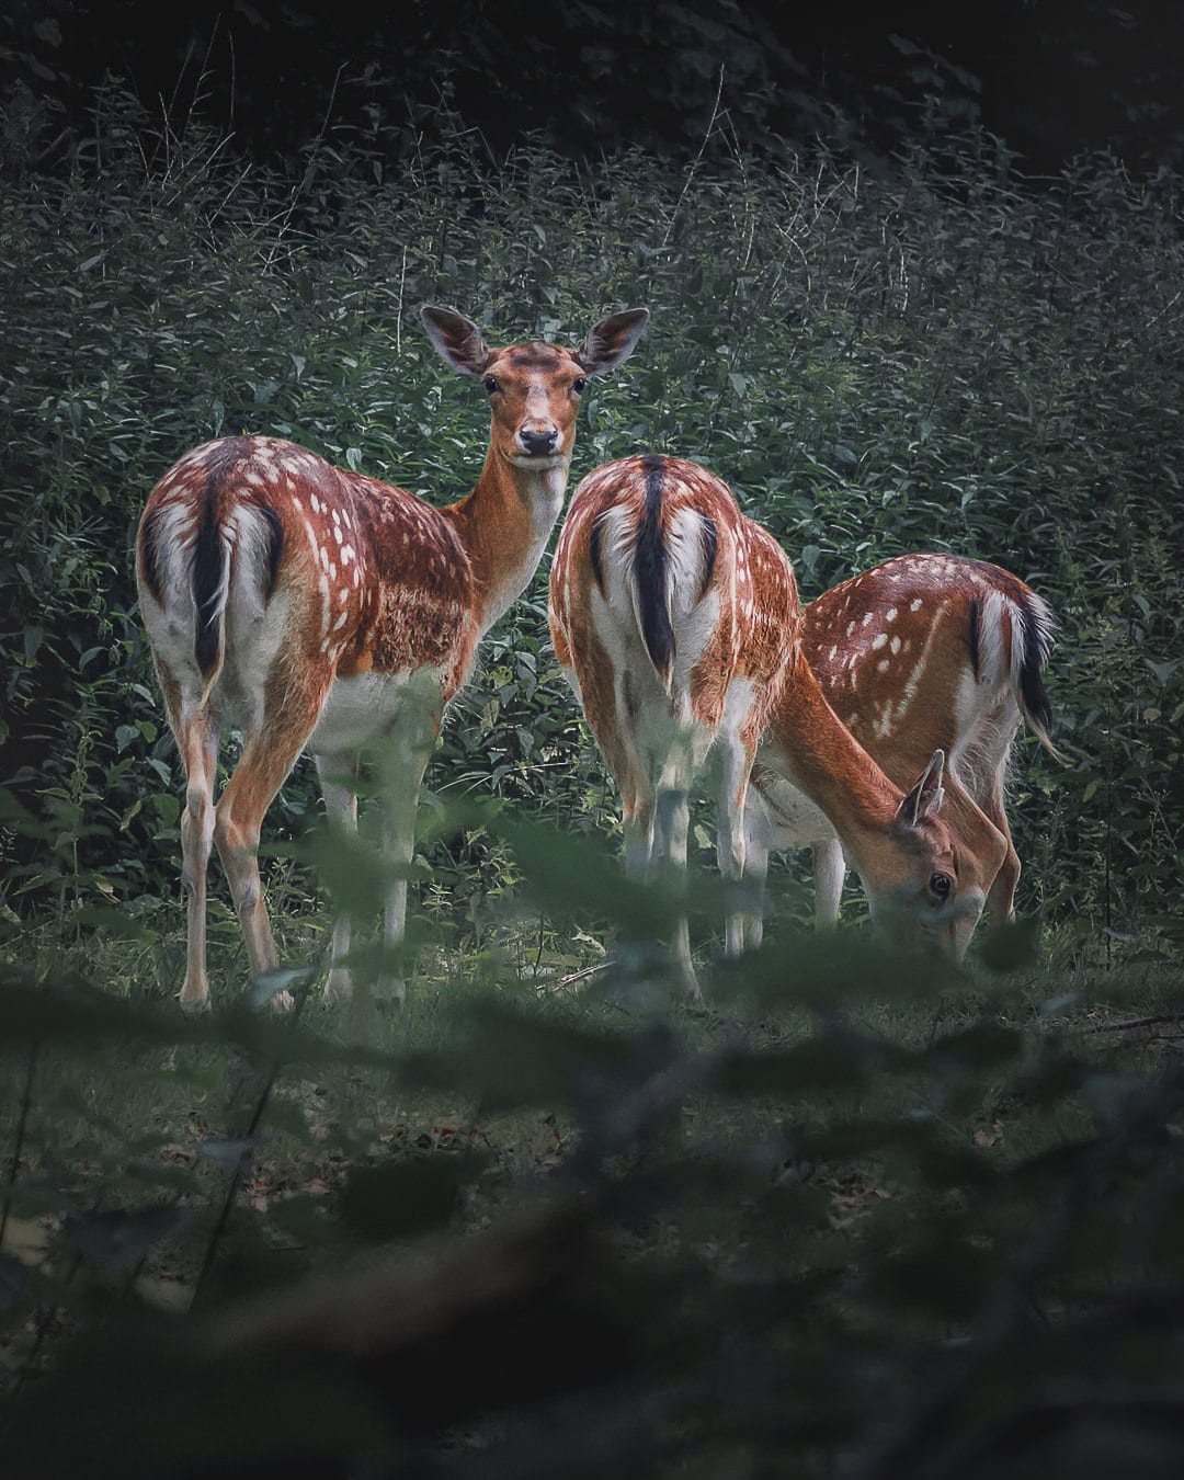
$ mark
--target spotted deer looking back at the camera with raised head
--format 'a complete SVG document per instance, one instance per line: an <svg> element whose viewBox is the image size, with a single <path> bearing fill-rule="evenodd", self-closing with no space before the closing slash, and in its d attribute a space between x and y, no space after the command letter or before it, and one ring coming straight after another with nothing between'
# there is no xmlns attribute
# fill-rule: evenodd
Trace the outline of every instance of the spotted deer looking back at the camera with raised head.
<svg viewBox="0 0 1184 1480"><path fill-rule="evenodd" d="M463 314L425 305L420 318L444 363L488 395L488 447L466 497L437 508L290 441L223 437L185 453L139 521L139 605L185 773L185 1009L209 1003L212 847L250 974L266 981L278 961L259 879L263 815L309 750L330 827L354 829L357 777L376 744L394 761L382 798L389 950L376 995L403 1000L389 962L404 938L416 804L445 706L481 636L539 565L562 508L588 377L632 354L648 311L611 314L577 349L539 340L491 349ZM244 743L215 804L226 728L241 730ZM327 1002L352 992L349 944L342 910Z"/></svg>

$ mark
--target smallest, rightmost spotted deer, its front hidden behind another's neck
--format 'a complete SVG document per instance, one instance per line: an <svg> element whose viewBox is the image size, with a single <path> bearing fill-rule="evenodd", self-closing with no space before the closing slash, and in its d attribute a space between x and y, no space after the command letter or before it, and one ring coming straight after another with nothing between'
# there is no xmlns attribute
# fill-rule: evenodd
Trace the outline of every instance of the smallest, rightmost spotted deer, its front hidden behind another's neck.
<svg viewBox="0 0 1184 1480"><path fill-rule="evenodd" d="M1052 611L1018 576L959 555L900 555L833 586L802 611L805 660L860 744L897 780L941 749L952 805L971 818L981 811L1005 839L986 897L995 922L1015 919L1020 858L1005 781L1020 728L1060 758L1043 685L1054 636ZM758 756L753 768L746 815L758 897L770 851L811 847L815 925L833 928L847 870L842 842L826 814L767 759ZM958 922L959 958L975 924L972 912ZM749 944L759 943L758 907Z"/></svg>

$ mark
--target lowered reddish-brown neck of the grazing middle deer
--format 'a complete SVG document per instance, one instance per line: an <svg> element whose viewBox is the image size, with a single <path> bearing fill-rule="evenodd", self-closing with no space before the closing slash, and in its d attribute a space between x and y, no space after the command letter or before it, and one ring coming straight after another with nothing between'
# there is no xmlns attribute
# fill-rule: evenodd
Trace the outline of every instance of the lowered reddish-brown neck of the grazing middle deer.
<svg viewBox="0 0 1184 1480"><path fill-rule="evenodd" d="M770 736L773 743L761 759L826 813L858 869L884 839L904 793L839 721L801 647Z"/></svg>

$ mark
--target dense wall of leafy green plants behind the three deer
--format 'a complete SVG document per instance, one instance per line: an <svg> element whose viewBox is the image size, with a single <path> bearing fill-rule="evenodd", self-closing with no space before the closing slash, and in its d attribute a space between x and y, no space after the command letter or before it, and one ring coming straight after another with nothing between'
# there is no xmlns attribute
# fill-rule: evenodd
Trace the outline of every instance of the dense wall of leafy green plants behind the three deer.
<svg viewBox="0 0 1184 1480"><path fill-rule="evenodd" d="M875 170L820 147L681 175L639 151L493 164L438 124L398 176L370 167L374 115L330 129L289 181L243 169L198 117L154 127L110 90L70 176L7 197L0 734L6 777L53 826L13 842L10 904L53 897L65 919L173 895L179 776L130 548L176 456L271 432L453 499L484 411L414 309L571 342L645 302L641 354L591 388L576 474L647 448L703 460L781 537L807 596L909 549L1032 580L1061 619L1049 687L1069 765L1020 746L1027 906L1156 925L1180 881L1178 182L1097 158L1036 189L972 132ZM428 802L491 789L611 829L545 582L490 635ZM315 805L297 770L280 839ZM469 915L482 857L431 854ZM306 872L272 870L306 895Z"/></svg>

